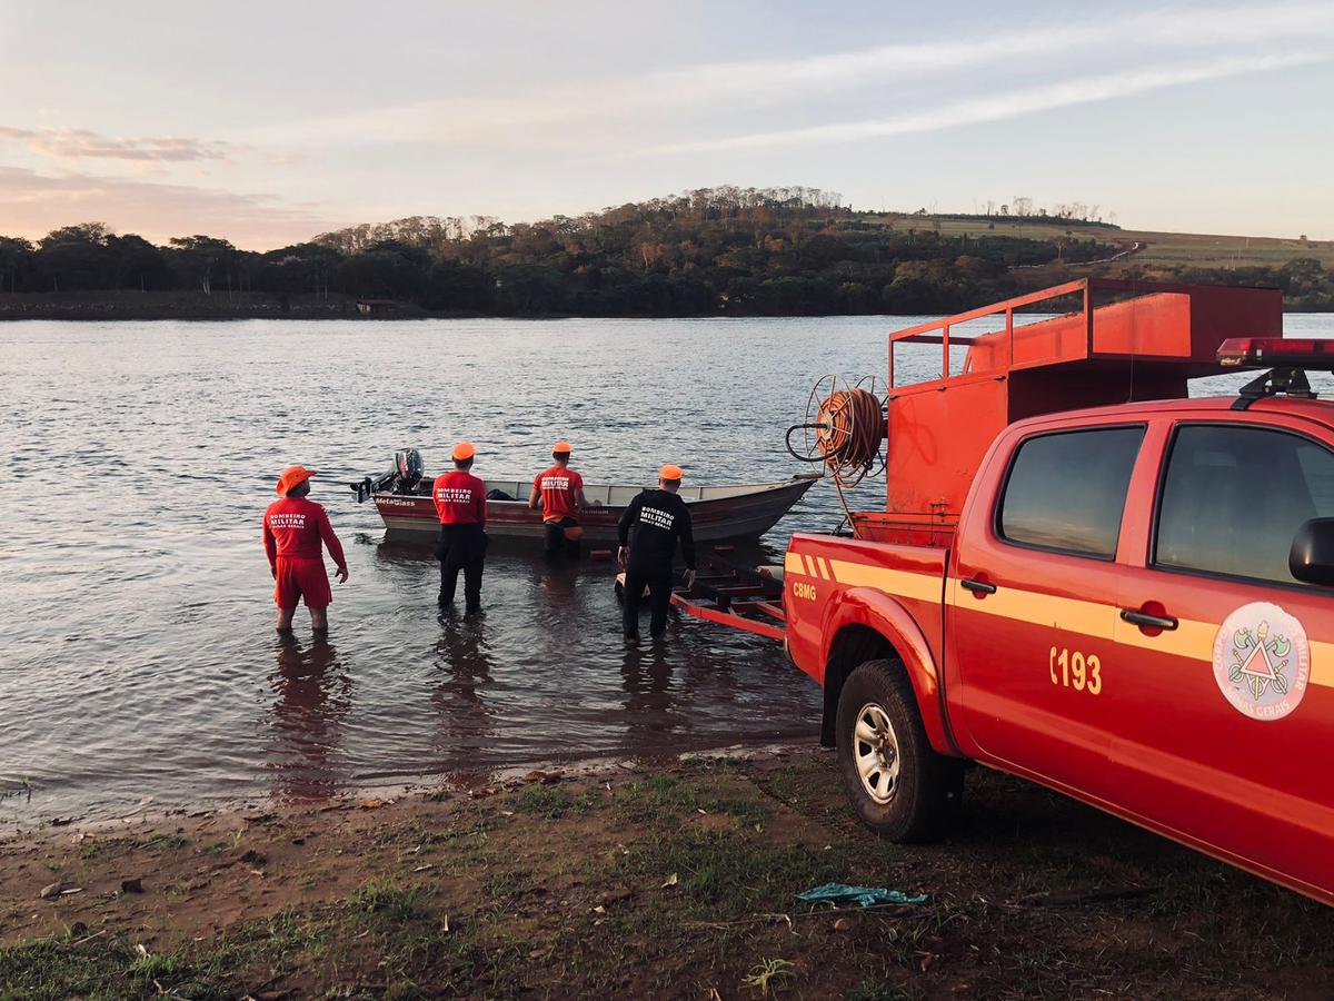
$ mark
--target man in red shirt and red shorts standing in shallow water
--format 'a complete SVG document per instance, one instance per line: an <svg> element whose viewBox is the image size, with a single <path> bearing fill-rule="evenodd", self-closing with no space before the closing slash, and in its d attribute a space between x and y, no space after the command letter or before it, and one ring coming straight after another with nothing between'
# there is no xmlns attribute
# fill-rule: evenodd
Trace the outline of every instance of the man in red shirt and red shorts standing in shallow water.
<svg viewBox="0 0 1334 1001"><path fill-rule="evenodd" d="M303 466L288 466L277 480L276 490L281 499L264 511L264 553L276 582L273 602L277 605L279 633L292 631L292 615L299 601L304 601L311 610L311 629L328 631L328 606L334 595L324 570L321 543L338 565L339 583L347 581L343 543L334 534L324 509L307 499L313 475L313 470Z"/></svg>

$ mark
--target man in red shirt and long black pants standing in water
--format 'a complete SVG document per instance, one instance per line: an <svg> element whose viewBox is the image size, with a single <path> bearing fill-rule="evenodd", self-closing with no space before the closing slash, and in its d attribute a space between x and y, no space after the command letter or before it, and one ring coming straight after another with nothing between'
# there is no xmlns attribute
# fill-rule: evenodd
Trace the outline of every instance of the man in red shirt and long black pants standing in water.
<svg viewBox="0 0 1334 1001"><path fill-rule="evenodd" d="M454 603L463 571L464 613L482 611L482 567L487 555L487 484L472 475L478 450L471 442L454 446L454 471L435 479L431 496L440 515L440 607Z"/></svg>

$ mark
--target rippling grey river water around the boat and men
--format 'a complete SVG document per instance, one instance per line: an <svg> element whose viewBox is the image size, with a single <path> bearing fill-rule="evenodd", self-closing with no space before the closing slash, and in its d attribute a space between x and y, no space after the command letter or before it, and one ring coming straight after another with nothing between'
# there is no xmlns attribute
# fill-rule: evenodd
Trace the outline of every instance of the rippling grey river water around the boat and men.
<svg viewBox="0 0 1334 1001"><path fill-rule="evenodd" d="M0 821L814 741L819 691L771 641L680 619L626 651L611 563L498 546L484 618L438 618L436 563L384 545L344 482L404 446L434 474L459 438L483 478L531 476L566 438L594 483L663 462L786 479L815 378L883 374L911 322L0 324ZM295 639L272 630L260 517L293 462L324 472L312 498L348 554L327 642L304 610ZM759 555L840 518L816 484Z"/></svg>

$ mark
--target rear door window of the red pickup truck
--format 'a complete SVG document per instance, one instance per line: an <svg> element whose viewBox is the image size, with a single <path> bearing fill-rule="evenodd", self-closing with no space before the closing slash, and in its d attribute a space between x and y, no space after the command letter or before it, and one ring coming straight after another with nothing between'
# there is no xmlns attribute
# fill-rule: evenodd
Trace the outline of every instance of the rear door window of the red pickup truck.
<svg viewBox="0 0 1334 1001"><path fill-rule="evenodd" d="M1111 559L1143 427L1099 427L1019 446L996 517L1021 546Z"/></svg>

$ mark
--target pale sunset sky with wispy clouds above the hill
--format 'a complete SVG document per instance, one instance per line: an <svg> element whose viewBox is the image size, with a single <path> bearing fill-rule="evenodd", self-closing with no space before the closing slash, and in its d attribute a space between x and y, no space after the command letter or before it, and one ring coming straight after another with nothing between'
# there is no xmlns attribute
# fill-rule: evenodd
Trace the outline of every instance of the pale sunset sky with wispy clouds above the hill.
<svg viewBox="0 0 1334 1001"><path fill-rule="evenodd" d="M0 235L807 186L1334 239L1334 0L0 0Z"/></svg>

